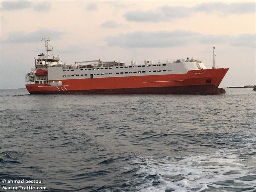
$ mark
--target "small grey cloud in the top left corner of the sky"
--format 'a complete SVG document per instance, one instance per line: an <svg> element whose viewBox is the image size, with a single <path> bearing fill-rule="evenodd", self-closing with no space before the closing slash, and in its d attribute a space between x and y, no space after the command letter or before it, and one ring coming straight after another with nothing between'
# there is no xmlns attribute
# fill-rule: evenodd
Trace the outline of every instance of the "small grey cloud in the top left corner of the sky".
<svg viewBox="0 0 256 192"><path fill-rule="evenodd" d="M30 8L32 6L32 3L27 0L3 1L1 5L3 10L21 10L21 9Z"/></svg>

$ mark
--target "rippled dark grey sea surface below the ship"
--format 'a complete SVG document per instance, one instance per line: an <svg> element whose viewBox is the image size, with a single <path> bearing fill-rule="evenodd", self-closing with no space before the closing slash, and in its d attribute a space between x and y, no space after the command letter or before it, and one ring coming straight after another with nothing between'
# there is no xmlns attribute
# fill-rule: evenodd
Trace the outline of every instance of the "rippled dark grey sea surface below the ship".
<svg viewBox="0 0 256 192"><path fill-rule="evenodd" d="M0 191L27 179L44 191L255 192L256 92L226 92L1 90Z"/></svg>

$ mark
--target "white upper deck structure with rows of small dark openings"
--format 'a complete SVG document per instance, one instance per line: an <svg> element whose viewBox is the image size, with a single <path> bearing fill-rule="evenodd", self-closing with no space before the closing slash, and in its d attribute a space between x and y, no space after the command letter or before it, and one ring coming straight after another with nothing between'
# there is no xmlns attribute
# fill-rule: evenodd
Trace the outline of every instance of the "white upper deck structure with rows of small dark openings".
<svg viewBox="0 0 256 192"><path fill-rule="evenodd" d="M175 60L176 61L176 60ZM120 65L121 64L121 65ZM185 74L189 70L206 69L200 62L144 62L143 64L125 65L116 63L111 67L103 65L55 65L48 68L48 79L81 79L81 78L106 78L106 77L129 77L129 76L148 76L148 75L168 75Z"/></svg>

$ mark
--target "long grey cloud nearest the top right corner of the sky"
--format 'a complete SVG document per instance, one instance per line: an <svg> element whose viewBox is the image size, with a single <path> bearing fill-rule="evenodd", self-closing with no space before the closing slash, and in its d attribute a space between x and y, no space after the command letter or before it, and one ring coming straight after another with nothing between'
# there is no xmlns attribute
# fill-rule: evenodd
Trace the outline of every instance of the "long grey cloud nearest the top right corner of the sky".
<svg viewBox="0 0 256 192"><path fill-rule="evenodd" d="M124 14L124 18L128 21L135 22L160 22L170 21L172 19L188 17L196 12L213 13L219 12L222 16L229 14L247 14L255 13L255 2L242 2L242 3L203 3L194 7L185 6L168 6L164 5L156 9L148 11L129 11Z"/></svg>

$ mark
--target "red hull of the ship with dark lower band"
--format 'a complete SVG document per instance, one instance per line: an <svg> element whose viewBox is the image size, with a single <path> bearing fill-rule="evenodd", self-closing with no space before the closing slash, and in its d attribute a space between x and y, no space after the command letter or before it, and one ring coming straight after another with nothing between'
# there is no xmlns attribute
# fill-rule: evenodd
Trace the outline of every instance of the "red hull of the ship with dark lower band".
<svg viewBox="0 0 256 192"><path fill-rule="evenodd" d="M228 68L220 68L172 75L60 79L62 86L26 87L31 94L217 94L227 71Z"/></svg>

